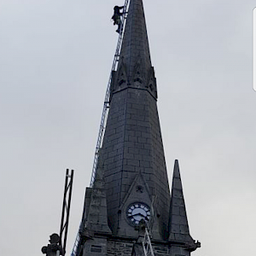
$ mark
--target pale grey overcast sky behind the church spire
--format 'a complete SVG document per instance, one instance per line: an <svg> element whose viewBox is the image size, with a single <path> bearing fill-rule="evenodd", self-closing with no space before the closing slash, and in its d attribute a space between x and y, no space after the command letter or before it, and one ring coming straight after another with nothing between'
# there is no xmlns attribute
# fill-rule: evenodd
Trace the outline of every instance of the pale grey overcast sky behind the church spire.
<svg viewBox="0 0 256 256"><path fill-rule="evenodd" d="M0 2L0 248L35 256L59 232L75 170L67 255L89 186L120 0ZM194 256L255 254L256 92L251 0L144 0L169 179L178 159Z"/></svg>

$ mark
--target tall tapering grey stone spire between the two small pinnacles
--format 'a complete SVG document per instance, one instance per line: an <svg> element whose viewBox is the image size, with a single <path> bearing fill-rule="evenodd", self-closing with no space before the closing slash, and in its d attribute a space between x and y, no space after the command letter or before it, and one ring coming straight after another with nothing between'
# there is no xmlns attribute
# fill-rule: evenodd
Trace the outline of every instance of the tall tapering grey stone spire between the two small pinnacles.
<svg viewBox="0 0 256 256"><path fill-rule="evenodd" d="M137 236L125 220L132 200L151 207L153 198L157 198L154 230L160 237L157 232L154 237L168 239L170 190L156 100L143 2L131 0L119 65L113 72L100 155L105 166L108 221L116 236ZM139 173L143 180L137 178ZM139 187L143 188L141 194L136 192Z"/></svg>

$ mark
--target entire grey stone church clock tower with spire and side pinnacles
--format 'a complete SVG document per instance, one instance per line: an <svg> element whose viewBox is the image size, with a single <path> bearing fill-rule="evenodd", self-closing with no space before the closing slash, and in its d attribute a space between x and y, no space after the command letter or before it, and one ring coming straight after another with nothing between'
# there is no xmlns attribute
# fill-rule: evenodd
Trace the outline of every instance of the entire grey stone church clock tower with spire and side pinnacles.
<svg viewBox="0 0 256 256"><path fill-rule="evenodd" d="M76 256L144 255L142 222L157 256L189 256L200 246L189 233L177 160L170 193L157 91L143 1L131 0Z"/></svg>

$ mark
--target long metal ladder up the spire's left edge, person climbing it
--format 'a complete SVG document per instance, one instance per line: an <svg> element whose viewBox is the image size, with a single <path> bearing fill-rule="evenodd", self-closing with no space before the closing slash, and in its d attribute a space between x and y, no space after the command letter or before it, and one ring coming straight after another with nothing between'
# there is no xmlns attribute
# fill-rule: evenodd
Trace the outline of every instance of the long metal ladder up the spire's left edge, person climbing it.
<svg viewBox="0 0 256 256"><path fill-rule="evenodd" d="M111 73L110 73L110 76L108 79L108 86L107 86L103 109L102 109L101 125L100 125L100 130L99 130L98 138L97 138L97 142L96 142L96 151L95 151L95 155L94 155L92 172L91 172L91 177L90 177L90 188L93 187L93 183L94 183L95 177L96 177L96 167L97 167L98 160L99 160L100 149L102 148L102 139L103 139L103 135L105 132L106 123L107 123L107 119L108 119L109 96L110 96L110 85L111 85L111 81L112 81L112 73L113 73L113 71L116 71L117 66L118 66L120 50L121 50L120 47L121 47L121 44L123 41L123 36L124 36L124 31L125 31L126 14L127 14L127 8L128 8L129 3L130 3L130 0L125 0L124 9L123 9L124 15L121 16L122 24L120 27L120 33L119 33L117 47L115 50L115 54L113 56L112 69L111 69ZM73 245L73 250L72 250L71 256L79 256L79 255L77 255L77 253L78 253L79 242L80 242L80 230L83 229L83 224L84 223L83 223L83 219L82 219L81 223L79 224L79 232L76 236L76 240Z"/></svg>

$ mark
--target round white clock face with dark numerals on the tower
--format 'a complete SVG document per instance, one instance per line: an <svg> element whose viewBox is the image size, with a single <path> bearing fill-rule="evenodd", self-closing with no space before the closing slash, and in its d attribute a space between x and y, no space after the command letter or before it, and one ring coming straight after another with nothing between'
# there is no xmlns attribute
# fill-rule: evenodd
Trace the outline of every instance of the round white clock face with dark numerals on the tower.
<svg viewBox="0 0 256 256"><path fill-rule="evenodd" d="M150 210L149 207L141 202L136 202L131 204L127 208L126 216L131 222L131 224L139 224L141 219L146 221L150 218Z"/></svg>

